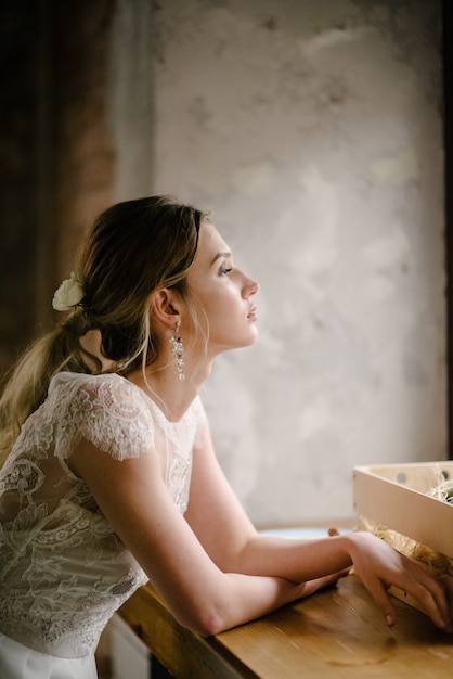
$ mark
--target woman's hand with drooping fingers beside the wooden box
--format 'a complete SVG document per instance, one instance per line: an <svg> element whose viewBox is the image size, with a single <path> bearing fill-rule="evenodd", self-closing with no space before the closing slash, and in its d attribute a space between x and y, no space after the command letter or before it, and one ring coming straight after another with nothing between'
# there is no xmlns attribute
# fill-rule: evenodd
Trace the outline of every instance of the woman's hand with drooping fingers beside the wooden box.
<svg viewBox="0 0 453 679"><path fill-rule="evenodd" d="M393 585L409 592L437 627L452 631L445 591L438 580L371 533L351 534L350 538L354 571L389 626L397 622L397 612L387 591Z"/></svg>

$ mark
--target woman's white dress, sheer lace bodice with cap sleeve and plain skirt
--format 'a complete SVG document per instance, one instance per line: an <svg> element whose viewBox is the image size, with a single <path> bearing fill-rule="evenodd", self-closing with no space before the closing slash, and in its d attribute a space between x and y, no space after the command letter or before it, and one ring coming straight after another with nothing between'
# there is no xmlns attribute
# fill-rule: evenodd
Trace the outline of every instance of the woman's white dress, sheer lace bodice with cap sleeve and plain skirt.
<svg viewBox="0 0 453 679"><path fill-rule="evenodd" d="M0 677L91 679L114 612L146 582L67 459L81 438L116 460L156 454L164 435L168 489L183 513L192 450L205 418L196 398L169 422L116 374L59 373L0 471Z"/></svg>

